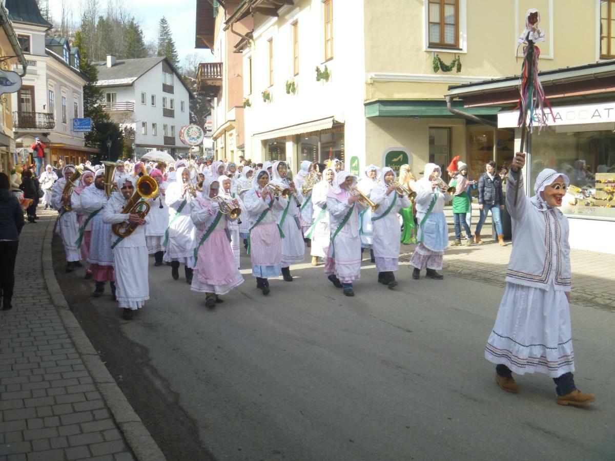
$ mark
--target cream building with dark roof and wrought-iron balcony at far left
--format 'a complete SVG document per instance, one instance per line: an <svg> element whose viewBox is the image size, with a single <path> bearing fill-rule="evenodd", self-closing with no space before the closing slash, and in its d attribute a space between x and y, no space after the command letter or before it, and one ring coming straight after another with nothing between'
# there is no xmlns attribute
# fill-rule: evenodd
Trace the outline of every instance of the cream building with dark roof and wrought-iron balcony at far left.
<svg viewBox="0 0 615 461"><path fill-rule="evenodd" d="M35 0L7 0L9 17L26 56L22 88L11 95L17 151L39 137L46 144L45 162L84 162L98 149L86 148L84 134L73 132L73 119L83 117L83 85L79 51L65 38L47 39L51 25L42 18ZM22 66L14 66L22 73ZM26 152L23 151L24 153Z"/></svg>

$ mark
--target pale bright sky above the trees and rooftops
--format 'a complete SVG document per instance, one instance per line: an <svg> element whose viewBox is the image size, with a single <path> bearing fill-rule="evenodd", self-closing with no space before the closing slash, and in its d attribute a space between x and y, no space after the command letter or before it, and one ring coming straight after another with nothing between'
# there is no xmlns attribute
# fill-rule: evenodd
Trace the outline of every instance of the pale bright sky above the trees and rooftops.
<svg viewBox="0 0 615 461"><path fill-rule="evenodd" d="M111 0L114 4L117 0ZM71 9L73 22L77 25L81 18L80 0L49 0L49 9L54 21L62 17L62 2ZM98 0L100 9L106 12L108 0ZM145 40L156 40L158 22L162 16L169 21L173 40L180 55L180 63L186 55L197 53L201 61L212 61L209 50L194 48L194 28L196 15L196 0L119 0L123 3L143 29Z"/></svg>

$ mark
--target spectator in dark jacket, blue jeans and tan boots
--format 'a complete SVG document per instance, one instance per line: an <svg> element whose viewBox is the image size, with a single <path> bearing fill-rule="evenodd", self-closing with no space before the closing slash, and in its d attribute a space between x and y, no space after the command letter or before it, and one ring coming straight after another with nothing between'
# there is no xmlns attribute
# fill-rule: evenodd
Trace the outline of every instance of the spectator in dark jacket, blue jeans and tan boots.
<svg viewBox="0 0 615 461"><path fill-rule="evenodd" d="M496 175L496 162L491 160L485 165L485 173L478 179L478 208L480 209L480 219L476 225L474 242L479 245L483 243L480 239L480 231L485 224L485 219L491 210L491 218L498 232L498 242L501 246L504 243L504 232L502 231L502 219L500 211L504 210L504 194L502 194L502 179Z"/></svg>

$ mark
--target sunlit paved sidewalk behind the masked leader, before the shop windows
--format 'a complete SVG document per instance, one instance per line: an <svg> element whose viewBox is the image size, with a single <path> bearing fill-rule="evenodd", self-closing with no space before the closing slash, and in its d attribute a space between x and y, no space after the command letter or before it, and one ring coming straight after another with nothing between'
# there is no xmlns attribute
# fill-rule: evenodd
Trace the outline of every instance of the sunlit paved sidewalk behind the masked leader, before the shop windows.
<svg viewBox="0 0 615 461"><path fill-rule="evenodd" d="M454 230L449 237L453 242ZM443 272L505 286L512 244L509 240L506 246L499 246L489 236L483 236L483 241L483 245L465 246L466 240L462 240L461 246L449 246L444 254ZM409 261L414 249L415 245L402 245L400 261ZM571 302L615 312L615 254L571 250L570 263L573 278Z"/></svg>

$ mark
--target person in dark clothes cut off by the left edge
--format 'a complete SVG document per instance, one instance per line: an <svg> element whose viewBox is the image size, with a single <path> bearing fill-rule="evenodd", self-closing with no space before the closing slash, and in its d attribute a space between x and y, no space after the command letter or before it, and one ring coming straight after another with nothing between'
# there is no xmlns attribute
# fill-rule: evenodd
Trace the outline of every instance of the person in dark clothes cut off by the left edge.
<svg viewBox="0 0 615 461"><path fill-rule="evenodd" d="M2 310L12 308L15 286L15 258L19 234L23 227L23 210L17 198L10 193L9 176L0 173L0 289Z"/></svg>

